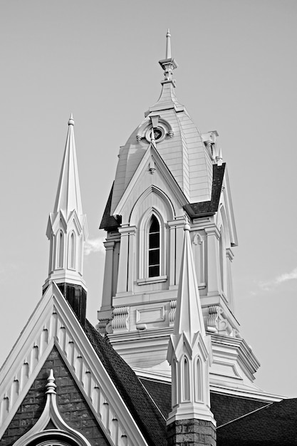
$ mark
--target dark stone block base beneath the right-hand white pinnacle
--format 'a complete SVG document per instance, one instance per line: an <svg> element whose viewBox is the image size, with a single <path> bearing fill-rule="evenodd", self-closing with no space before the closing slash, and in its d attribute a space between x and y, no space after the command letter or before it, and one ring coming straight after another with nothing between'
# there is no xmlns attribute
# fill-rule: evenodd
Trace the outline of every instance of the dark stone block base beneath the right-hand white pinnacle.
<svg viewBox="0 0 297 446"><path fill-rule="evenodd" d="M213 423L205 420L177 420L167 426L167 446L216 446Z"/></svg>

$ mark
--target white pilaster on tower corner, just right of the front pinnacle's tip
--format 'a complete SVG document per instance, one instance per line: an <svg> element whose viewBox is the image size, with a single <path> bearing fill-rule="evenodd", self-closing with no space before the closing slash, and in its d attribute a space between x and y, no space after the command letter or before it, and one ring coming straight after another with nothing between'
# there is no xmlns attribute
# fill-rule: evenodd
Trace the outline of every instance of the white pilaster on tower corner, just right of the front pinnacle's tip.
<svg viewBox="0 0 297 446"><path fill-rule="evenodd" d="M219 230L217 226L205 228L207 234L207 294L219 292Z"/></svg>

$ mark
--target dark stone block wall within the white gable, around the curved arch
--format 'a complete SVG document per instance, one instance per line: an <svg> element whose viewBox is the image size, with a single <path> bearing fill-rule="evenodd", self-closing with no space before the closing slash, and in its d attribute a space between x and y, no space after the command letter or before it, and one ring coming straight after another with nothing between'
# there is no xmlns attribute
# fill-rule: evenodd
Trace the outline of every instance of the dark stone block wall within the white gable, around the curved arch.
<svg viewBox="0 0 297 446"><path fill-rule="evenodd" d="M43 364L31 389L1 438L1 446L11 446L36 423L46 404L46 383L49 371L56 378L58 410L70 427L81 432L92 446L108 446L104 434L88 404L80 393L56 347Z"/></svg>

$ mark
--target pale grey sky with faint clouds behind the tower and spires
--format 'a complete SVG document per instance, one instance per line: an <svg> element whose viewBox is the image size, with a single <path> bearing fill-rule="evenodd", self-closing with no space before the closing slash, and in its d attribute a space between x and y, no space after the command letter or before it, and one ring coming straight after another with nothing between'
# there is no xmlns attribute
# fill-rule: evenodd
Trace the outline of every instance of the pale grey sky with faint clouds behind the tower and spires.
<svg viewBox="0 0 297 446"><path fill-rule="evenodd" d="M41 298L46 224L73 112L88 318L100 308L98 231L118 150L160 94L167 28L177 98L217 130L239 236L236 317L256 383L297 397L296 0L0 2L0 363Z"/></svg>

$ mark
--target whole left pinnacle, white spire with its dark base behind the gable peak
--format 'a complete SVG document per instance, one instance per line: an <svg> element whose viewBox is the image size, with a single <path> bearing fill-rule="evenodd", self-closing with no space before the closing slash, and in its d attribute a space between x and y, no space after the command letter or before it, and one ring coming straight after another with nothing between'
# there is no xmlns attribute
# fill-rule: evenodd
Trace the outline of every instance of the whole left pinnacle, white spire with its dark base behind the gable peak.
<svg viewBox="0 0 297 446"><path fill-rule="evenodd" d="M68 135L53 213L49 215L46 235L51 242L48 278L55 281L78 318L85 318L86 288L83 280L83 247L88 226L80 197L76 160L74 120L68 121Z"/></svg>

